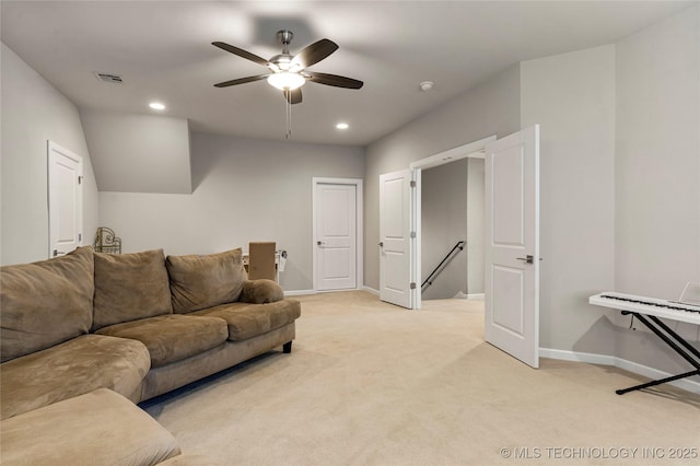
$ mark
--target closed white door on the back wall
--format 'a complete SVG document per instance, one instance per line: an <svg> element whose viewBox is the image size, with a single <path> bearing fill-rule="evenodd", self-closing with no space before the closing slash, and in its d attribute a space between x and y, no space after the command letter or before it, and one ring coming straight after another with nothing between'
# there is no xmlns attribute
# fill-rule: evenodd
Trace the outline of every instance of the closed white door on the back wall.
<svg viewBox="0 0 700 466"><path fill-rule="evenodd" d="M354 289L357 282L357 186L316 184L318 291Z"/></svg>

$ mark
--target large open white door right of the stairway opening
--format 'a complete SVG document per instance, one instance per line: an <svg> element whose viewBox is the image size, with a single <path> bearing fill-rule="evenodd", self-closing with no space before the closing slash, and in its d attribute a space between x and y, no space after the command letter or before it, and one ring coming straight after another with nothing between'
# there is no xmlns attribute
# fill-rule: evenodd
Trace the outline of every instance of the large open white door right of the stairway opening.
<svg viewBox="0 0 700 466"><path fill-rule="evenodd" d="M486 322L491 345L539 366L539 126L486 145Z"/></svg>

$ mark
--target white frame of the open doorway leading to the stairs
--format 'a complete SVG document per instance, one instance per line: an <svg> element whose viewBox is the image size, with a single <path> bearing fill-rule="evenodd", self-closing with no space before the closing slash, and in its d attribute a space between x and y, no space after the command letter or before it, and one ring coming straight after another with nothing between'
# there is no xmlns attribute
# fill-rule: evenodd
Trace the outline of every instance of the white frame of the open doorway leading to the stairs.
<svg viewBox="0 0 700 466"><path fill-rule="evenodd" d="M456 162L462 159L485 159L486 145L497 140L495 135L488 138L479 139L478 141L469 142L458 145L453 149L448 149L443 152L430 155L425 159L411 162L409 168L412 172L412 179L416 180L416 195L411 199L411 219L413 231L416 232L416 240L411 242L411 280L416 283L420 283L422 270L421 270L421 173L423 170L432 168L435 166L444 165L446 163ZM421 293L420 288L415 290L413 299L411 300L412 307L415 310L421 308Z"/></svg>

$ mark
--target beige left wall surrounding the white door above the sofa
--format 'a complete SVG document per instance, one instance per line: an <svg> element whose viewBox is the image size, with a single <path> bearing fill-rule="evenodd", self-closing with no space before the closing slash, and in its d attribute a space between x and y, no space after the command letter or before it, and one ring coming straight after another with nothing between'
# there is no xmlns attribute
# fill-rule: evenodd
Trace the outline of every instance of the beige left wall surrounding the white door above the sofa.
<svg viewBox="0 0 700 466"><path fill-rule="evenodd" d="M97 186L78 109L2 44L0 264L48 258L47 141L83 159L83 234L97 230Z"/></svg>

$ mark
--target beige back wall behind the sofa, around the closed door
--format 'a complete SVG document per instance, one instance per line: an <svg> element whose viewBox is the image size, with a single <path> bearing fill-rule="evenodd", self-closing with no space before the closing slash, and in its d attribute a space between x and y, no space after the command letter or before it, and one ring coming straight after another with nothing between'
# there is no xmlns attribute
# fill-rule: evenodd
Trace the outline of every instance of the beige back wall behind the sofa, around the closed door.
<svg viewBox="0 0 700 466"><path fill-rule="evenodd" d="M125 252L209 254L275 241L289 259L280 281L311 290L312 178L362 178L361 148L194 132L191 195L100 193L100 221Z"/></svg>

